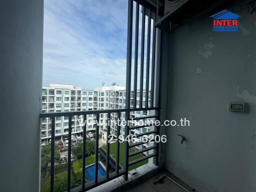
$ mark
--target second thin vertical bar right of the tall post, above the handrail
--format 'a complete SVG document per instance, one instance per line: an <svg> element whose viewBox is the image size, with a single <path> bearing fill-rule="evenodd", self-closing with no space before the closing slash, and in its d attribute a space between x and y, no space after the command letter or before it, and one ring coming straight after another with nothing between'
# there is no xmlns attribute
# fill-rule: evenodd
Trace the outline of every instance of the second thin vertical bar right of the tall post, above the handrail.
<svg viewBox="0 0 256 192"><path fill-rule="evenodd" d="M142 28L141 28L141 50L140 50L139 108L142 108L142 98L143 98L144 46L145 46L145 7L142 6Z"/></svg>

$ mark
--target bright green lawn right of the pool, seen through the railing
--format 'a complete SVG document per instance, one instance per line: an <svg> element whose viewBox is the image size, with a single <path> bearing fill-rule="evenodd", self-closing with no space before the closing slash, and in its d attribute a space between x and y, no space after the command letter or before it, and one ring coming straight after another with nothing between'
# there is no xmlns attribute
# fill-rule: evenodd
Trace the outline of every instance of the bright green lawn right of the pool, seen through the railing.
<svg viewBox="0 0 256 192"><path fill-rule="evenodd" d="M109 146L110 146L109 154L110 154L114 159L116 159L116 142L110 143ZM124 143L120 142L120 143L119 143L119 146L120 146L120 148L119 148L119 163L120 163L120 165L123 167L123 163L124 163L124 151L125 151L125 150L124 150ZM102 148L103 148L104 150L106 150L106 145L103 145ZM131 153L131 152L133 152L133 151L134 151L134 150L133 150L132 148L129 148L129 153ZM142 155L142 154L136 154L136 155L134 155L134 156L131 156L131 157L129 157L129 162L132 161L132 160L135 160L135 159L137 159L137 158L140 158L140 157L143 157L143 155ZM129 166L128 170L132 170L132 169L134 169L134 168L137 168L137 167L139 167L139 166L142 166L143 164L146 164L147 162L148 162L148 160L146 159L146 160L143 160L143 161L138 162L138 163L136 163L136 164L133 164L133 165Z"/></svg>

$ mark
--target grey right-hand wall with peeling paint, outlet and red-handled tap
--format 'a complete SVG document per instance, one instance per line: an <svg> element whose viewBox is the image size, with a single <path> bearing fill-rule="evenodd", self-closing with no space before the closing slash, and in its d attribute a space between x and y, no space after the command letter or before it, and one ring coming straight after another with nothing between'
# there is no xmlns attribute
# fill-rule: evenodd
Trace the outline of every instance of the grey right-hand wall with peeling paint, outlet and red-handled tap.
<svg viewBox="0 0 256 192"><path fill-rule="evenodd" d="M167 127L165 167L199 192L256 191L254 3L224 7L241 15L238 32L212 31L208 16L217 9L171 34L167 118L186 117L190 126ZM248 102L249 112L229 112L229 101Z"/></svg>

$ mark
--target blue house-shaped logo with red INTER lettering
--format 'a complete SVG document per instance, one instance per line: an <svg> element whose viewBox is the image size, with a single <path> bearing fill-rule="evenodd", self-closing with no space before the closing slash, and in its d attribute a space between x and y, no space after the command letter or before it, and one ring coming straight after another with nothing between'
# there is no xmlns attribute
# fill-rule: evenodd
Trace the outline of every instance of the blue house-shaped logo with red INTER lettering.
<svg viewBox="0 0 256 192"><path fill-rule="evenodd" d="M238 31L238 14L225 9L210 17L213 18L213 31Z"/></svg>

